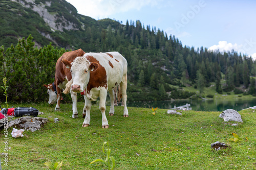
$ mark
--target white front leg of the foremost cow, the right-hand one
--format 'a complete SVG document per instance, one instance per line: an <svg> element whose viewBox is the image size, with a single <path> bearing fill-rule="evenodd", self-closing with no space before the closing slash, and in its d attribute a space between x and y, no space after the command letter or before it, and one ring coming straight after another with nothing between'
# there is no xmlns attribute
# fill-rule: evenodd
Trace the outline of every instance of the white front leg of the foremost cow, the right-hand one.
<svg viewBox="0 0 256 170"><path fill-rule="evenodd" d="M99 94L99 110L102 114L102 128L109 128L108 119L106 119L105 110L106 110L106 89L101 89Z"/></svg>

